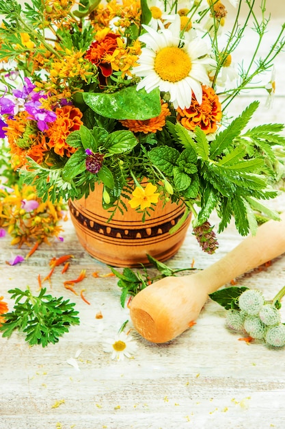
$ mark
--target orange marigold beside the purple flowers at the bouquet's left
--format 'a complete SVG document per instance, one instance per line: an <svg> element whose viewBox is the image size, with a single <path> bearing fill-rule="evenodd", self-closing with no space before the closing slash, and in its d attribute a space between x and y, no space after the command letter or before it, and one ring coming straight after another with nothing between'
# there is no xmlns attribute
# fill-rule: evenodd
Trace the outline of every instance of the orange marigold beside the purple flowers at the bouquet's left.
<svg viewBox="0 0 285 429"><path fill-rule="evenodd" d="M53 148L55 154L59 156L67 156L68 158L76 151L75 147L71 147L66 143L66 137L70 132L79 130L82 113L79 108L74 106L64 106L55 110L57 119L49 124L49 130L45 133L49 137L47 143L50 148Z"/></svg>

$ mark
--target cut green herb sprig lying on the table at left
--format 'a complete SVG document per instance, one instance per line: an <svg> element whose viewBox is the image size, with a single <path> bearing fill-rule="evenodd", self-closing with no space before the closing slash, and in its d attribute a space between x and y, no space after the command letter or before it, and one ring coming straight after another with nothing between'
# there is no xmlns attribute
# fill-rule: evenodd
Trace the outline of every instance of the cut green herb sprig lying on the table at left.
<svg viewBox="0 0 285 429"><path fill-rule="evenodd" d="M8 291L15 299L14 310L5 313L5 323L0 326L3 337L10 337L16 330L26 335L29 345L57 343L59 336L68 332L70 325L79 325L78 311L75 304L63 297L46 294L42 288L38 296L31 293L29 286L26 291L15 288Z"/></svg>

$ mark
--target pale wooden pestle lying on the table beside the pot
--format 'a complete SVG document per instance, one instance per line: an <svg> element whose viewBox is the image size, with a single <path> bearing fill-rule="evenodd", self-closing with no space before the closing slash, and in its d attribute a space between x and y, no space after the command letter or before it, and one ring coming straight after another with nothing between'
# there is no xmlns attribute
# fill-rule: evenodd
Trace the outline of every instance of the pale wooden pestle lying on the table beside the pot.
<svg viewBox="0 0 285 429"><path fill-rule="evenodd" d="M208 294L285 252L285 212L258 227L210 267L192 275L166 277L139 292L130 306L135 329L152 343L182 334L198 318Z"/></svg>

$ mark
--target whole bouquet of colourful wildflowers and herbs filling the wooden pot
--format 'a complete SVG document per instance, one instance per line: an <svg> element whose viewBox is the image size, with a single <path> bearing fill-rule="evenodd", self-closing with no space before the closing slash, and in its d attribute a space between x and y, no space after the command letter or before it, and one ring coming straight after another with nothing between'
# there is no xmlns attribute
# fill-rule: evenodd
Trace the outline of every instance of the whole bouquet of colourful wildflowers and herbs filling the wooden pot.
<svg viewBox="0 0 285 429"><path fill-rule="evenodd" d="M277 195L283 125L250 128L258 101L234 119L227 107L264 72L273 95L285 29L260 58L266 0L224 2L0 0L0 132L38 197L79 199L103 184L110 217L143 218L160 199L182 201L198 236L213 210L219 232L232 217L254 232L256 211L277 219L261 201ZM249 23L258 42L245 64L234 54Z"/></svg>

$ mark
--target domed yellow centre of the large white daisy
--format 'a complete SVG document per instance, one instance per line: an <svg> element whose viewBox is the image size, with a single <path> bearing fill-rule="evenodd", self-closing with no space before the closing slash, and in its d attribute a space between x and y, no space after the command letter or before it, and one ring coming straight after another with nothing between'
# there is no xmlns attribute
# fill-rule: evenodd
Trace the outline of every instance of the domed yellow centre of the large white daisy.
<svg viewBox="0 0 285 429"><path fill-rule="evenodd" d="M179 82L191 71L191 60L185 51L178 47L165 47L157 53L154 71L167 82Z"/></svg>

